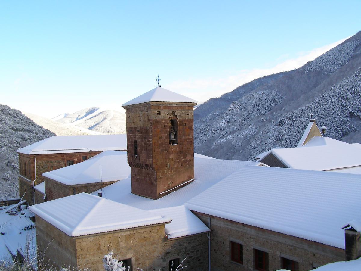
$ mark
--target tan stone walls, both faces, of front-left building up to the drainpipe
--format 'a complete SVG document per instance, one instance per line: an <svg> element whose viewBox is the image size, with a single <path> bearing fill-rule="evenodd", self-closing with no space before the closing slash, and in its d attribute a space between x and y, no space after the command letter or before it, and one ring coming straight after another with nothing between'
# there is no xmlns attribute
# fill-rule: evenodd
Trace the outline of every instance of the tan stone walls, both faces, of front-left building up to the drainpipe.
<svg viewBox="0 0 361 271"><path fill-rule="evenodd" d="M132 261L132 270L169 270L169 261L179 258L187 270L208 270L208 238L206 234L166 240L164 224L70 237L36 216L37 244L45 248L45 261L58 268L65 265L103 270L101 259L113 250L119 260Z"/></svg>

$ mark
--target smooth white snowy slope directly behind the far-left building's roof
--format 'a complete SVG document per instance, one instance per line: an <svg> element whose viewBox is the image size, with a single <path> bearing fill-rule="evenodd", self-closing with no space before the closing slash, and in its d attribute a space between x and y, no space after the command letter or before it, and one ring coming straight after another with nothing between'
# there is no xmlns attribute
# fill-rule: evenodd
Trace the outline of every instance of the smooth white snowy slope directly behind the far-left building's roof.
<svg viewBox="0 0 361 271"><path fill-rule="evenodd" d="M76 127L68 124L62 124L53 119L49 120L45 117L38 116L32 113L22 112L29 119L34 121L36 124L43 126L45 129L55 133L57 136L77 136L77 135L88 135L88 134L101 134L88 130L81 127Z"/></svg>

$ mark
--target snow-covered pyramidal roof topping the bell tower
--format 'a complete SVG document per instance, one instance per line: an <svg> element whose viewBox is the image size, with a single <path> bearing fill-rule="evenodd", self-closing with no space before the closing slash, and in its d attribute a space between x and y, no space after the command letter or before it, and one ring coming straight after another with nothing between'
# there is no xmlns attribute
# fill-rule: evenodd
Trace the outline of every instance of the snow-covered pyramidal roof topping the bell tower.
<svg viewBox="0 0 361 271"><path fill-rule="evenodd" d="M122 106L131 106L133 104L147 102L198 103L196 100L158 86L155 89L149 90L137 98L122 104Z"/></svg>

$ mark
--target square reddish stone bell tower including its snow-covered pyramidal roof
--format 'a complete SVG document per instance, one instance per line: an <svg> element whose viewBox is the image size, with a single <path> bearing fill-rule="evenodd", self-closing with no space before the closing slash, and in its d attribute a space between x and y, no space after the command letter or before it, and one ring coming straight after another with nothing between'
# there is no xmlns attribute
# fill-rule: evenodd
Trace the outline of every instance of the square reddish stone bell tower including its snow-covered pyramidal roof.
<svg viewBox="0 0 361 271"><path fill-rule="evenodd" d="M196 104L158 86L122 105L132 193L158 199L194 180Z"/></svg>

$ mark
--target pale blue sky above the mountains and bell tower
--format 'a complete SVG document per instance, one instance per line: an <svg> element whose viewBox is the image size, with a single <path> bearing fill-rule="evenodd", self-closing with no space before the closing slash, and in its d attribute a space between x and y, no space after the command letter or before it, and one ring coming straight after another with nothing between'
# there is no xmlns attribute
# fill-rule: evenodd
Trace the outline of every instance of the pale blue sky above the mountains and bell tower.
<svg viewBox="0 0 361 271"><path fill-rule="evenodd" d="M0 103L52 117L166 89L200 102L361 30L360 1L1 1Z"/></svg>

